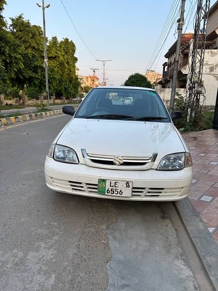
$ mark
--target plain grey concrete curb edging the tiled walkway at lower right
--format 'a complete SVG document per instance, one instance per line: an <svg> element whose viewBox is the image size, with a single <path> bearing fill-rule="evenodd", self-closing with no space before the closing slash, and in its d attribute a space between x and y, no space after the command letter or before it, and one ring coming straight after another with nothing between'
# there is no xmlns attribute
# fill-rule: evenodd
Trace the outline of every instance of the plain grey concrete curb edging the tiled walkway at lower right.
<svg viewBox="0 0 218 291"><path fill-rule="evenodd" d="M202 260L214 289L218 291L218 243L204 225L188 198L176 201L175 207Z"/></svg>

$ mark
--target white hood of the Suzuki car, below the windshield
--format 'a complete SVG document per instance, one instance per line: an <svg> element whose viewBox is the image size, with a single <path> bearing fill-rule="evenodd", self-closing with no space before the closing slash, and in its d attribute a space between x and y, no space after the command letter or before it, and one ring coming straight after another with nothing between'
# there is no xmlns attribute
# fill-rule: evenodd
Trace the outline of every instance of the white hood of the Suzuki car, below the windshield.
<svg viewBox="0 0 218 291"><path fill-rule="evenodd" d="M58 144L81 153L159 157L184 152L172 123L73 118L62 131Z"/></svg>

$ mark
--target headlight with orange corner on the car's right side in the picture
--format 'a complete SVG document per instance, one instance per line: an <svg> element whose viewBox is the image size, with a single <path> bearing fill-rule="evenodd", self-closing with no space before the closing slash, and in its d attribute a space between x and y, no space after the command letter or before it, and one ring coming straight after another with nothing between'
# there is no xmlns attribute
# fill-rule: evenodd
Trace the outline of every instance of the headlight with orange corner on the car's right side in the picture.
<svg viewBox="0 0 218 291"><path fill-rule="evenodd" d="M191 166L192 160L189 153L176 153L165 156L159 163L157 170L177 171Z"/></svg>

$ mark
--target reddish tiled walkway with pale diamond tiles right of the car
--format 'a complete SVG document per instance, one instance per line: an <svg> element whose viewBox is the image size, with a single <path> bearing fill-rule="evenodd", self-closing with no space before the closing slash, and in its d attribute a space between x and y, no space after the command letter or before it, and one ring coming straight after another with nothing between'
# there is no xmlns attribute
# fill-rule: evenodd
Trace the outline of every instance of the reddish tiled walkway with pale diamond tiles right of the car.
<svg viewBox="0 0 218 291"><path fill-rule="evenodd" d="M218 130L184 133L193 160L189 200L218 241Z"/></svg>

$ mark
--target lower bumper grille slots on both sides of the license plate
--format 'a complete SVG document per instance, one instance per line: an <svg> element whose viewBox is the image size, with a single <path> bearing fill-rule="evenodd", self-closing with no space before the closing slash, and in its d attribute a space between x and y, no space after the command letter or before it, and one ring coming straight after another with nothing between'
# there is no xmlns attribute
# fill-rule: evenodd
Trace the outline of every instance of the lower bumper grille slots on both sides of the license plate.
<svg viewBox="0 0 218 291"><path fill-rule="evenodd" d="M98 194L98 184L81 183L76 181L67 181L57 178L51 178L53 185L59 191L70 192L72 194ZM132 187L132 196L178 196L183 188L144 188Z"/></svg>

